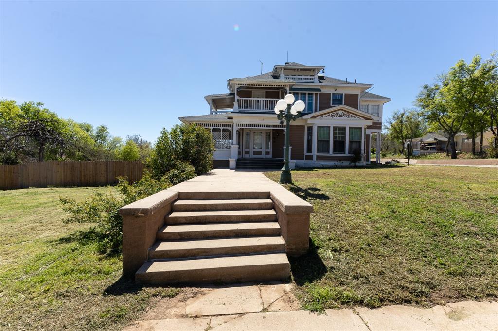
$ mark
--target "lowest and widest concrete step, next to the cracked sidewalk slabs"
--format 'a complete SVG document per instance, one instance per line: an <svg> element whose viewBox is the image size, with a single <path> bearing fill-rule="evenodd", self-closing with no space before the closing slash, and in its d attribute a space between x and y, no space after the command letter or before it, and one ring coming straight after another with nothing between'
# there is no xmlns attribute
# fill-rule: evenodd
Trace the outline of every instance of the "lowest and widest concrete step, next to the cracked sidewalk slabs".
<svg viewBox="0 0 498 331"><path fill-rule="evenodd" d="M142 284L236 283L290 278L285 253L146 261L135 274Z"/></svg>

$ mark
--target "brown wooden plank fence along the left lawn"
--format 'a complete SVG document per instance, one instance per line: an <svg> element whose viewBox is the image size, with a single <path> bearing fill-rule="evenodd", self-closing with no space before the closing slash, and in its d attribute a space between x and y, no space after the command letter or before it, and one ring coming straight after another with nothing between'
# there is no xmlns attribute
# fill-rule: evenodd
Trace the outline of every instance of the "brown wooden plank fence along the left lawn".
<svg viewBox="0 0 498 331"><path fill-rule="evenodd" d="M0 165L0 189L46 186L104 186L142 178L140 161L47 161Z"/></svg>

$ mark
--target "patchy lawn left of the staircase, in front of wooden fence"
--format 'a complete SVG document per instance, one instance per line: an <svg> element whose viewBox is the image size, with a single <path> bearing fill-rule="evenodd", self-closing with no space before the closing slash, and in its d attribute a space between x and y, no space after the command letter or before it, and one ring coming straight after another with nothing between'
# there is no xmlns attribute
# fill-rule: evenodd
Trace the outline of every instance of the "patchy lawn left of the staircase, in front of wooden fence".
<svg viewBox="0 0 498 331"><path fill-rule="evenodd" d="M97 252L89 225L62 224L59 197L112 187L0 191L0 329L118 330L174 288L121 278L121 256Z"/></svg>

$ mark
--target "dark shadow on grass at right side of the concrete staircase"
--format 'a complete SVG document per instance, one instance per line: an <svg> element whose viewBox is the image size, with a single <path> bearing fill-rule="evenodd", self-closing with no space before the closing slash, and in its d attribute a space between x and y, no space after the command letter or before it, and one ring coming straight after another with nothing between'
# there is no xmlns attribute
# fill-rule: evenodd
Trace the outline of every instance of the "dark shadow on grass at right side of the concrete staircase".
<svg viewBox="0 0 498 331"><path fill-rule="evenodd" d="M290 257L290 269L298 286L323 278L327 267L318 255L318 247L310 239L308 253L299 257Z"/></svg>

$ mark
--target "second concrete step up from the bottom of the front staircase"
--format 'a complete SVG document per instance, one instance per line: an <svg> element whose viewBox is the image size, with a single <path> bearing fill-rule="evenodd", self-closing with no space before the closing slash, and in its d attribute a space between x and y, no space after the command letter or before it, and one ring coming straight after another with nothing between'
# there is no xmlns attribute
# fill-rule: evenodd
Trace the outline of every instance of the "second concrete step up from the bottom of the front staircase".
<svg viewBox="0 0 498 331"><path fill-rule="evenodd" d="M149 259L284 252L282 237L193 239L156 242Z"/></svg>

